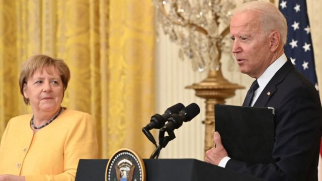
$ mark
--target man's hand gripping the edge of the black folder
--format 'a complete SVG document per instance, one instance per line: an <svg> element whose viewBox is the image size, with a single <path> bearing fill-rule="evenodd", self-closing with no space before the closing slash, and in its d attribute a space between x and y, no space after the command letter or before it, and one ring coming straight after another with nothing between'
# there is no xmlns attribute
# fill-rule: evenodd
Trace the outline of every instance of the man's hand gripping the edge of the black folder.
<svg viewBox="0 0 322 181"><path fill-rule="evenodd" d="M215 142L215 147L206 151L205 161L207 163L218 165L220 160L223 157L228 156L228 154L225 148L222 146L221 138L218 132L214 132L213 140Z"/></svg>

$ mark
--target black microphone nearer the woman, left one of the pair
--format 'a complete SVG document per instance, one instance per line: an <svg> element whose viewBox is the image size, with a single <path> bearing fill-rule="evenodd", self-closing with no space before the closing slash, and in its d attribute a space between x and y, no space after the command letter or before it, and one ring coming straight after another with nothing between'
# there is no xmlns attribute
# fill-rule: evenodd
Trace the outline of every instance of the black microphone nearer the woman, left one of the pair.
<svg viewBox="0 0 322 181"><path fill-rule="evenodd" d="M183 104L178 103L168 108L163 115L159 115L159 114L153 115L150 119L150 123L147 124L143 129L151 130L153 128L157 128L157 129L162 128L172 114L174 113L178 114L180 110L182 110L184 107L185 106Z"/></svg>

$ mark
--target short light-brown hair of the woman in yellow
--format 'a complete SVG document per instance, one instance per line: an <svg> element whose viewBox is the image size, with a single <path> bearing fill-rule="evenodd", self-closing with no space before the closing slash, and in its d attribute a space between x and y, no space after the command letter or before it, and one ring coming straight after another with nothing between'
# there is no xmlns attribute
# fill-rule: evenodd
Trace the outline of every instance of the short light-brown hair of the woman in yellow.
<svg viewBox="0 0 322 181"><path fill-rule="evenodd" d="M47 55L34 55L27 59L27 61L23 64L20 76L19 76L19 87L20 93L24 97L24 101L26 105L29 105L29 99L24 96L24 86L27 83L28 79L33 76L33 74L37 70L41 70L43 68L54 67L57 68L60 72L60 78L63 84L63 95L68 85L68 81L70 79L70 71L67 64L61 59L54 59Z"/></svg>

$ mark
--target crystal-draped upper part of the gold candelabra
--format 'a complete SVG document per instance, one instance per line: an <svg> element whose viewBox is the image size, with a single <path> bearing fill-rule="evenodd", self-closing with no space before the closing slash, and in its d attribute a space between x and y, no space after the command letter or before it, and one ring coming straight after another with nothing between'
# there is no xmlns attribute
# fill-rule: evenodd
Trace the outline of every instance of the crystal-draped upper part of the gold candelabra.
<svg viewBox="0 0 322 181"><path fill-rule="evenodd" d="M231 57L229 21L233 0L153 0L165 35L179 45L179 58L192 68L217 70L222 53ZM232 57L231 57L232 58Z"/></svg>

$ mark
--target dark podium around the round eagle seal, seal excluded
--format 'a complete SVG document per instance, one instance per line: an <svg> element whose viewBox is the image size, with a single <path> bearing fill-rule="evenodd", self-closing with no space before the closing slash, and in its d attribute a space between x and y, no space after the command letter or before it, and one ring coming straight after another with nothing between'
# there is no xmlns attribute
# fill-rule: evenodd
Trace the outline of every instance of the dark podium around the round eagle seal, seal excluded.
<svg viewBox="0 0 322 181"><path fill-rule="evenodd" d="M143 159L147 181L260 181L196 159ZM81 159L75 181L104 181L108 159Z"/></svg>

